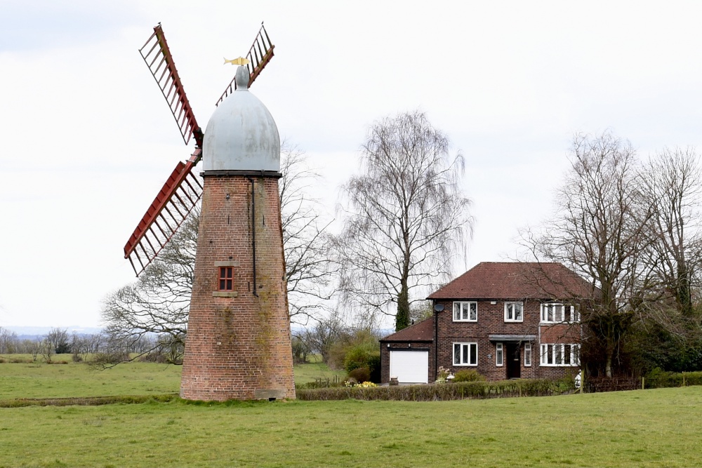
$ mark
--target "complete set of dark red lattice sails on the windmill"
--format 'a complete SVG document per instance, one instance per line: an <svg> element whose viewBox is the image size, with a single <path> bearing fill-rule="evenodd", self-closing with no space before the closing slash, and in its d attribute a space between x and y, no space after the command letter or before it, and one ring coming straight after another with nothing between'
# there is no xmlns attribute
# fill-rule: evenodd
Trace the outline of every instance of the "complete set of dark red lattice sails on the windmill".
<svg viewBox="0 0 702 468"><path fill-rule="evenodd" d="M261 23L256 39L246 54L251 79L249 86L273 58L274 45ZM154 34L139 49L149 71L154 76L161 93L163 93L173 118L176 119L178 130L183 142L188 145L195 140L195 151L190 159L178 161L176 168L168 176L154 201L146 210L134 232L124 245L124 258L128 258L137 276L157 257L161 249L171 240L183 224L187 215L197 206L202 196L202 185L192 173L202 157L203 132L195 120L190 102L185 95L183 83L180 81L176 64L161 23L154 27ZM232 78L215 106L220 105L228 95L236 89L235 79Z"/></svg>

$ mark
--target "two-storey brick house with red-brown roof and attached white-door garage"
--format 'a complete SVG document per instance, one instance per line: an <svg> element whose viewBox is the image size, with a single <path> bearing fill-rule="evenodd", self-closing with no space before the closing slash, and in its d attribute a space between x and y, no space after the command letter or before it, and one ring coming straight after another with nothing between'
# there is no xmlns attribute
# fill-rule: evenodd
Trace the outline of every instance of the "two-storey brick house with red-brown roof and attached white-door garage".
<svg viewBox="0 0 702 468"><path fill-rule="evenodd" d="M488 380L573 375L592 293L559 263L479 263L428 297L431 319L380 340L381 382L433 382L439 367Z"/></svg>

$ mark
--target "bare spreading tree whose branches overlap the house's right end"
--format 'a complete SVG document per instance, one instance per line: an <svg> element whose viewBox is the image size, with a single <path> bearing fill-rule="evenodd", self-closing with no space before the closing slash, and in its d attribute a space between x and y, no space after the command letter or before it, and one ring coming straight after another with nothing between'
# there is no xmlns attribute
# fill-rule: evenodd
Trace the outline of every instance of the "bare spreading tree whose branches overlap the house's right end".
<svg viewBox="0 0 702 468"><path fill-rule="evenodd" d="M640 189L639 169L630 142L609 132L576 135L555 216L540 230L522 233L534 257L561 262L591 281L597 299L581 319L603 344L608 377L635 311L648 300L642 255L653 210Z"/></svg>

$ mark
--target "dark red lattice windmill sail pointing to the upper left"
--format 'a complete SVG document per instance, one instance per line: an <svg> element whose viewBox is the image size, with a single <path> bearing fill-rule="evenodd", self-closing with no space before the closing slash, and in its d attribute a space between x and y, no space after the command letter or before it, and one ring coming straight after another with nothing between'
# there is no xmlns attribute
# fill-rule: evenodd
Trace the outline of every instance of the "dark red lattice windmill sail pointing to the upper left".
<svg viewBox="0 0 702 468"><path fill-rule="evenodd" d="M180 82L176 64L173 62L173 56L168 49L166 36L160 24L154 27L154 34L139 49L139 53L168 102L185 145L190 142L190 138L194 137L197 147L202 147L201 128L195 121L192 107L185 95L183 83Z"/></svg>

